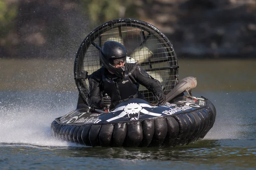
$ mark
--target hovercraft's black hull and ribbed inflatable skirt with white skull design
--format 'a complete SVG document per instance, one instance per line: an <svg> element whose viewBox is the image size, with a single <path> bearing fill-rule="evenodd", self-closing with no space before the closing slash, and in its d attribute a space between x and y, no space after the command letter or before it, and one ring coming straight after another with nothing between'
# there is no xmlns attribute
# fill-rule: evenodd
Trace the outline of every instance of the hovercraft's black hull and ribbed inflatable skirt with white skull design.
<svg viewBox="0 0 256 170"><path fill-rule="evenodd" d="M51 133L93 147L171 147L204 138L215 117L205 98L180 96L164 106L128 99L108 113L81 108L56 118Z"/></svg>

